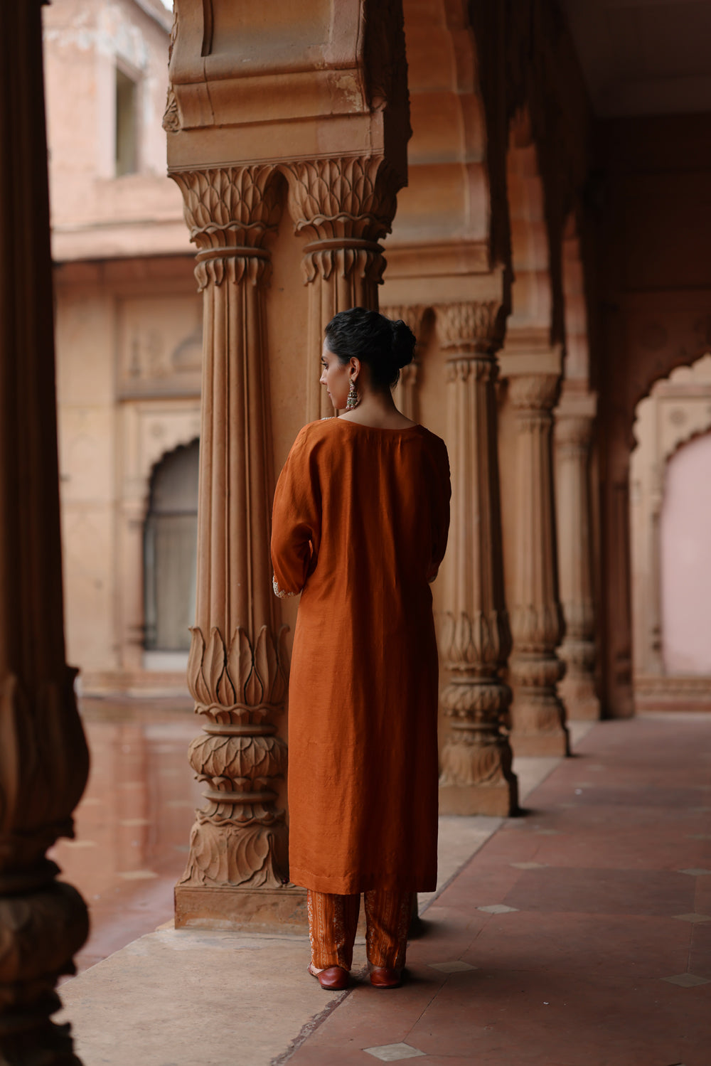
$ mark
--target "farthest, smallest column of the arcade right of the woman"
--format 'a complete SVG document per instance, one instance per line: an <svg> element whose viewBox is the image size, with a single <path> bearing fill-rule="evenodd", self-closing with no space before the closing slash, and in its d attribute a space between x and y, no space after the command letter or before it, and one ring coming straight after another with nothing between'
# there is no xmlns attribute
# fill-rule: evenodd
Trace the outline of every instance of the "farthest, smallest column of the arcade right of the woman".
<svg viewBox="0 0 711 1066"><path fill-rule="evenodd" d="M559 577L565 637L559 649L566 664L560 685L568 717L597 720L595 693L595 607L591 529L589 459L596 397L564 394L555 411L555 495Z"/></svg>

